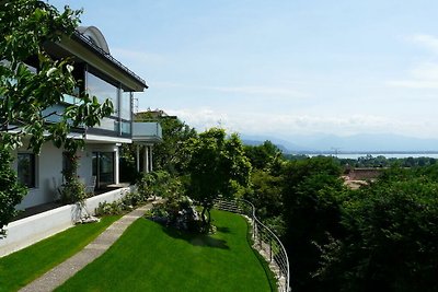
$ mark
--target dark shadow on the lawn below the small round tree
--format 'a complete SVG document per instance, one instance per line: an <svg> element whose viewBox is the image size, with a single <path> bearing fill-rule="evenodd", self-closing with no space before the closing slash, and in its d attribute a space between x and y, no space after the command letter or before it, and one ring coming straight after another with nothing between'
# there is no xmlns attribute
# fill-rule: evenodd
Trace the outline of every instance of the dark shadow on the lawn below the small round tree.
<svg viewBox="0 0 438 292"><path fill-rule="evenodd" d="M175 240L183 240L194 246L203 246L203 247L214 247L214 248L221 248L221 249L230 249L227 245L227 242L223 240L215 238L207 234L196 234L196 233L188 233L184 231L176 230L174 227L168 227L161 225L163 232Z"/></svg>

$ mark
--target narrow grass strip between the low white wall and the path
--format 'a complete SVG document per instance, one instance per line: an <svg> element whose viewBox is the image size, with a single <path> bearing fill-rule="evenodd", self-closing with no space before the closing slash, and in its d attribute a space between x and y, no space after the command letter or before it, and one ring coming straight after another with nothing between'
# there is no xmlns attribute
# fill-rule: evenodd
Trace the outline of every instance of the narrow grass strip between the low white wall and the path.
<svg viewBox="0 0 438 292"><path fill-rule="evenodd" d="M68 259L119 217L106 217L99 223L82 224L0 258L0 291L16 291L53 267Z"/></svg>

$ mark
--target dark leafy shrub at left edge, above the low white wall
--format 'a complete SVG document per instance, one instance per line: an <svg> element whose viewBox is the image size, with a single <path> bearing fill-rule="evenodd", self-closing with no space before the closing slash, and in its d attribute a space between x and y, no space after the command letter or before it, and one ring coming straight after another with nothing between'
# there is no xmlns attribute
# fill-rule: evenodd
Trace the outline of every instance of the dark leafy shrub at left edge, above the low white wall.
<svg viewBox="0 0 438 292"><path fill-rule="evenodd" d="M11 163L11 153L0 147L0 237L5 234L3 226L16 215L15 206L27 192L26 187L18 182Z"/></svg>

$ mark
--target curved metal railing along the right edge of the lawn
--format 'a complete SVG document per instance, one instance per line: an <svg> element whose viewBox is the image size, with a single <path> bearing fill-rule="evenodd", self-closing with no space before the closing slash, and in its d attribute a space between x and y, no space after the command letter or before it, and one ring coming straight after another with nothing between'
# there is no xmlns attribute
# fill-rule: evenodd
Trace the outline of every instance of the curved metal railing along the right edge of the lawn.
<svg viewBox="0 0 438 292"><path fill-rule="evenodd" d="M244 199L215 200L215 208L233 213L245 214L251 219L253 247L269 261L269 268L277 277L278 291L290 291L289 259L285 247L275 233L263 224L255 215L255 208Z"/></svg>

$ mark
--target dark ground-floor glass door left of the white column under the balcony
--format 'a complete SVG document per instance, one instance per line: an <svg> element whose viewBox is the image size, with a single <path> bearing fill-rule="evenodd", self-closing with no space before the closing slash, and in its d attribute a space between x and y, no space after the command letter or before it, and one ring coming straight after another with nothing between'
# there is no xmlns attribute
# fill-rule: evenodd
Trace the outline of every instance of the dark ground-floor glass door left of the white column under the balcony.
<svg viewBox="0 0 438 292"><path fill-rule="evenodd" d="M97 188L114 184L114 152L93 152L93 175Z"/></svg>

